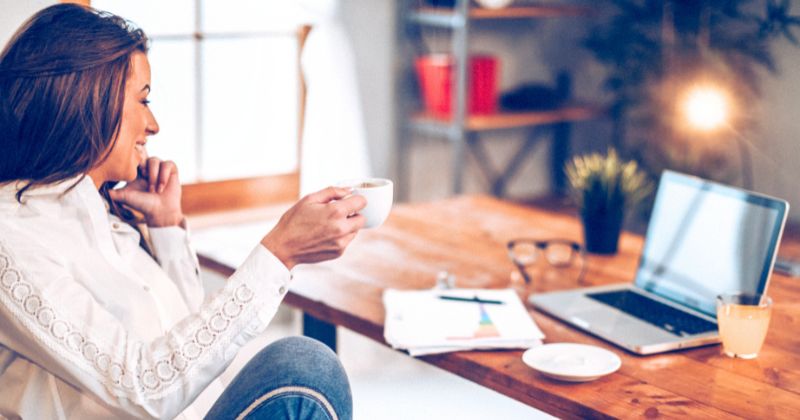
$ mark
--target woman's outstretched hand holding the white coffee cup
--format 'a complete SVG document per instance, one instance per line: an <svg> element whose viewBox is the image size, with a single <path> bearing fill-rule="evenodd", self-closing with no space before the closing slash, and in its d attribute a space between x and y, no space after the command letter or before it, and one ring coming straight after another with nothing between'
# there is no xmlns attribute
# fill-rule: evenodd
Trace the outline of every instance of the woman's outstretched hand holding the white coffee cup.
<svg viewBox="0 0 800 420"><path fill-rule="evenodd" d="M364 217L356 213L366 205L364 197L347 188L309 194L281 216L261 244L290 270L337 258L364 226Z"/></svg>

